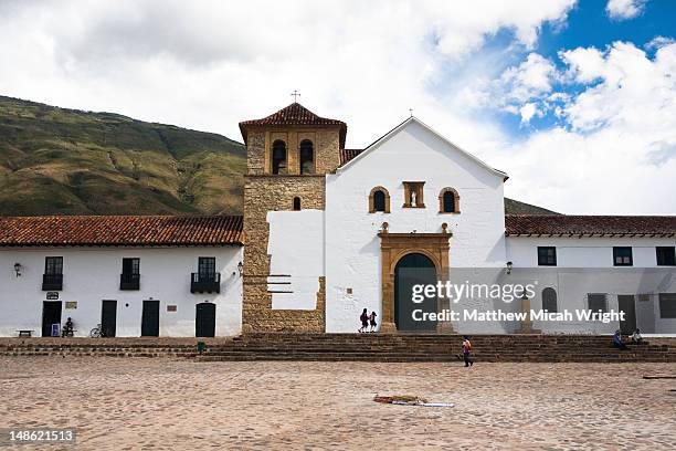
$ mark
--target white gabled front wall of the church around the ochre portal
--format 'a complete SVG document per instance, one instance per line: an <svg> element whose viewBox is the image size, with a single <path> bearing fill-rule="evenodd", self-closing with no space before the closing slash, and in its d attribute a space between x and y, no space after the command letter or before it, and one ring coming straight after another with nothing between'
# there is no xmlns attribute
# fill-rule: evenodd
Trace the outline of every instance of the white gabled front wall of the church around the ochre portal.
<svg viewBox="0 0 676 451"><path fill-rule="evenodd" d="M402 208L403 181L424 181L425 208ZM505 265L504 176L415 120L327 176L327 332L353 332L362 308L382 317L378 231L439 233L448 224L450 265ZM390 195L390 213L369 213L377 186ZM439 212L439 195L460 193L460 214ZM351 290L348 290L351 289ZM349 293L351 291L351 294Z"/></svg>

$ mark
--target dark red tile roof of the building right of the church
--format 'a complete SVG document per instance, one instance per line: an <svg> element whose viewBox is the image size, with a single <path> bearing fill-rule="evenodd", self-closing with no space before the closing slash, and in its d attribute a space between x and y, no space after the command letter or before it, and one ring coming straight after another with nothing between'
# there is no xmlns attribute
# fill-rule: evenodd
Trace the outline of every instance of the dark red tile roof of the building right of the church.
<svg viewBox="0 0 676 451"><path fill-rule="evenodd" d="M505 233L508 237L676 237L676 216L507 214Z"/></svg>

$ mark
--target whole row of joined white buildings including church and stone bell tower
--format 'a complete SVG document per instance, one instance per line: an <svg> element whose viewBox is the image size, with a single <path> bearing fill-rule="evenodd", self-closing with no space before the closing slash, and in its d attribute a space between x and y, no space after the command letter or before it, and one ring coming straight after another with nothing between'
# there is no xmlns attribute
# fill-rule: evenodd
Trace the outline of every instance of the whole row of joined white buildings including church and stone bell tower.
<svg viewBox="0 0 676 451"><path fill-rule="evenodd" d="M0 335L353 333L365 308L381 333L676 334L676 217L506 216L507 175L415 117L359 150L297 103L240 128L243 217L1 218ZM452 311L505 317L413 318Z"/></svg>

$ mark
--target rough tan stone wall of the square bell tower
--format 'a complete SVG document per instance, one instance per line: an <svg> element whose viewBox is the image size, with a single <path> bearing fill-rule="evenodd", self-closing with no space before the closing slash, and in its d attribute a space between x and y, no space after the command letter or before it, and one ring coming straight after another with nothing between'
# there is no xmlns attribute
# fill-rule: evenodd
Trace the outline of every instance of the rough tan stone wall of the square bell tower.
<svg viewBox="0 0 676 451"><path fill-rule="evenodd" d="M319 277L316 310L273 310L267 292L270 261L268 211L325 209L325 174L340 165L340 127L251 127L247 130L247 175L244 186L244 302L243 332L325 332L325 277ZM272 143L286 143L288 175L270 175ZM316 175L299 175L299 143L310 139Z"/></svg>

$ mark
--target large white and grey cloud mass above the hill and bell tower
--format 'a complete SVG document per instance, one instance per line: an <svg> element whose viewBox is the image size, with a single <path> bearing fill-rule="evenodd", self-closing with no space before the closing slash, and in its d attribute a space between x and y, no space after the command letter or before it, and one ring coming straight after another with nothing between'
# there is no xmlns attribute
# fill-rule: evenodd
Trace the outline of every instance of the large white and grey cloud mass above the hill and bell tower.
<svg viewBox="0 0 676 451"><path fill-rule="evenodd" d="M0 57L12 62L0 93L239 138L237 122L285 106L298 88L308 107L349 123L351 146L413 107L477 147L496 127L431 93L441 67L475 63L472 52L501 29L531 45L573 3L0 2Z"/></svg>

